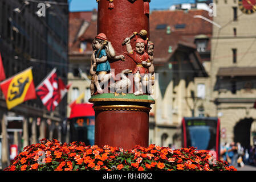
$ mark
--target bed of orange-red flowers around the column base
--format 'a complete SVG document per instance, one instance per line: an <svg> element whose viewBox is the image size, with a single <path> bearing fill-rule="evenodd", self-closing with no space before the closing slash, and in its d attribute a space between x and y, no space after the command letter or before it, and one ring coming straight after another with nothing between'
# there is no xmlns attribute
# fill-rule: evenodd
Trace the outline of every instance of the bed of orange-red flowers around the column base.
<svg viewBox="0 0 256 182"><path fill-rule="evenodd" d="M83 142L61 144L58 140L40 140L16 156L6 171L78 171L78 170L161 170L161 171L235 171L225 161L214 161L207 151L196 148L172 150L151 144L123 150L111 146L86 146Z"/></svg>

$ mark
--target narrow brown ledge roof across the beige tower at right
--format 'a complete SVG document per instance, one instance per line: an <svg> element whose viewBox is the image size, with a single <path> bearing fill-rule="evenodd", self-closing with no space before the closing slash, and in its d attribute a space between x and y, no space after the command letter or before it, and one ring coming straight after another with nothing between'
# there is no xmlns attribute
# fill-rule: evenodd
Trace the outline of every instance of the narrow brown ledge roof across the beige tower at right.
<svg viewBox="0 0 256 182"><path fill-rule="evenodd" d="M218 69L217 76L234 77L234 76L256 76L256 67L229 67Z"/></svg>

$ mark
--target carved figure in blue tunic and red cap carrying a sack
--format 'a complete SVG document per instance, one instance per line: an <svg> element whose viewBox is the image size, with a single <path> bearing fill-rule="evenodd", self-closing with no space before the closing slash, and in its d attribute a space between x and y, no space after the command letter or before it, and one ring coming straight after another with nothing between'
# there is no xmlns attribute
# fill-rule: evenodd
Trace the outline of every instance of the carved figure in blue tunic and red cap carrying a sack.
<svg viewBox="0 0 256 182"><path fill-rule="evenodd" d="M108 41L107 36L103 33L100 33L95 37L95 40L92 42L92 46L96 50L92 55L92 62L94 63L92 63L91 66L96 68L96 74L94 76L94 81L92 82L94 82L94 85L96 86L97 93L101 94L104 93L101 86L104 85L104 88L107 89L108 86L105 84L111 76L113 76L108 59L124 61L124 55L116 56L115 49L111 42ZM91 86L91 95L93 95L94 92L95 88L94 86Z"/></svg>

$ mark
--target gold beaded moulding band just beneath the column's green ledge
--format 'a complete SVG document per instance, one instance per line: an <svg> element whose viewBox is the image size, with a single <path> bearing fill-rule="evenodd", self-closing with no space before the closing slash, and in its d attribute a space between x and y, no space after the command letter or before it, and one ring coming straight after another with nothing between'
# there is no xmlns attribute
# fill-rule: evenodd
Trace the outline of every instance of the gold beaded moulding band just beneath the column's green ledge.
<svg viewBox="0 0 256 182"><path fill-rule="evenodd" d="M136 106L136 105L108 105L108 106L93 106L94 110L131 110L149 112L151 107Z"/></svg>

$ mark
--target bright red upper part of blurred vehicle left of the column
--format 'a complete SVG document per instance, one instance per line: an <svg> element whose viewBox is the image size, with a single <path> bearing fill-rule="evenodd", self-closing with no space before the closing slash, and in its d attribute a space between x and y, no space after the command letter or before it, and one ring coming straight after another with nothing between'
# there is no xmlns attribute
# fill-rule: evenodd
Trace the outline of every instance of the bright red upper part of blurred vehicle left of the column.
<svg viewBox="0 0 256 182"><path fill-rule="evenodd" d="M76 104L71 109L70 119L76 117L94 116L93 104Z"/></svg>

